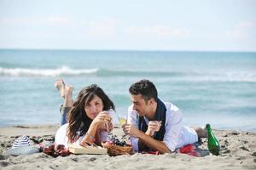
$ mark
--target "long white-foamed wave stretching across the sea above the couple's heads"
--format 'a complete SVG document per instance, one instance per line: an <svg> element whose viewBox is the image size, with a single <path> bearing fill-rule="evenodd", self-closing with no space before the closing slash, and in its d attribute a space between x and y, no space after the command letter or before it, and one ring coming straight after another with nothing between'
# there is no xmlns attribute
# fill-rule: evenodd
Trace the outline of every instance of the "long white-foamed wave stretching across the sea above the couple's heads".
<svg viewBox="0 0 256 170"><path fill-rule="evenodd" d="M253 72L186 72L186 71L136 71L109 69L71 69L62 66L56 69L29 69L0 67L0 76L8 77L60 77L60 76L96 76L96 77L170 77L172 81L187 82L256 82Z"/></svg>

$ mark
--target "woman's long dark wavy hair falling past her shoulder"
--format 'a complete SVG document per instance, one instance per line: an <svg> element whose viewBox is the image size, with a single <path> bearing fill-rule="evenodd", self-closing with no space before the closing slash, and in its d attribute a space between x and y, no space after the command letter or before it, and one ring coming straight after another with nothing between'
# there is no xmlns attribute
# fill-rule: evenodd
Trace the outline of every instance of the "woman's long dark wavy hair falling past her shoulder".
<svg viewBox="0 0 256 170"><path fill-rule="evenodd" d="M113 102L108 98L108 95L103 92L102 88L99 88L96 84L82 88L67 116L67 122L69 123L67 127L67 137L69 142L76 141L79 139L79 136L83 136L84 133L88 131L92 120L86 115L84 105L89 104L95 96L102 99L103 111L110 109L114 111L115 106Z"/></svg>

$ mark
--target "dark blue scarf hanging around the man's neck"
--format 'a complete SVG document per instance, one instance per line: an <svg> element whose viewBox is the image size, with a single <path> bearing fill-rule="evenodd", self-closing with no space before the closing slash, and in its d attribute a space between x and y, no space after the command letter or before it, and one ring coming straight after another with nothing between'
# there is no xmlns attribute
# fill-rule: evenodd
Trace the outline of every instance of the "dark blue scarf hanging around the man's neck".
<svg viewBox="0 0 256 170"><path fill-rule="evenodd" d="M166 133L166 105L160 99L157 99L154 121L161 121L162 123L160 130L157 133L154 133L153 138L163 141ZM148 125L143 116L137 115L137 129L143 131L144 133L148 130Z"/></svg>

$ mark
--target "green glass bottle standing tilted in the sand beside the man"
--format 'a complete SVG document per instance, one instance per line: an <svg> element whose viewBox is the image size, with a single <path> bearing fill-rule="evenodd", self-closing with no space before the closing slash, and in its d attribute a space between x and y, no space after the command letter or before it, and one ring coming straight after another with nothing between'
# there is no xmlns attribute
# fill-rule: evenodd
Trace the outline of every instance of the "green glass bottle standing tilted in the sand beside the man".
<svg viewBox="0 0 256 170"><path fill-rule="evenodd" d="M218 156L219 155L219 144L218 139L212 133L212 128L210 124L207 124L207 134L208 134L208 150L212 153L212 155Z"/></svg>

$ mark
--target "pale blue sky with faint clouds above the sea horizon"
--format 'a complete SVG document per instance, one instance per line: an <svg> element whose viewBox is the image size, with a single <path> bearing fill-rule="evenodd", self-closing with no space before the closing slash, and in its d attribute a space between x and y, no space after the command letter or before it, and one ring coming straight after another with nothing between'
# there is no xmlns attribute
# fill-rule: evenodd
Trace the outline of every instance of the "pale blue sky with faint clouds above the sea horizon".
<svg viewBox="0 0 256 170"><path fill-rule="evenodd" d="M0 48L256 51L256 0L0 0Z"/></svg>

